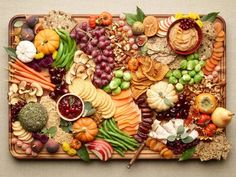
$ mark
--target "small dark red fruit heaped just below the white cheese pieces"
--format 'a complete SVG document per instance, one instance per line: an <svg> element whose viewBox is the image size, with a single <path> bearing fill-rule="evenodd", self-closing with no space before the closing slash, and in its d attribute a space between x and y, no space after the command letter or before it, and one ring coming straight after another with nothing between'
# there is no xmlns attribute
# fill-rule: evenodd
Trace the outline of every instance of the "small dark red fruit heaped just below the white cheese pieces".
<svg viewBox="0 0 236 177"><path fill-rule="evenodd" d="M174 154L182 154L185 150L196 146L200 142L199 139L193 140L191 143L183 143L181 140L167 141L166 146L174 152Z"/></svg>

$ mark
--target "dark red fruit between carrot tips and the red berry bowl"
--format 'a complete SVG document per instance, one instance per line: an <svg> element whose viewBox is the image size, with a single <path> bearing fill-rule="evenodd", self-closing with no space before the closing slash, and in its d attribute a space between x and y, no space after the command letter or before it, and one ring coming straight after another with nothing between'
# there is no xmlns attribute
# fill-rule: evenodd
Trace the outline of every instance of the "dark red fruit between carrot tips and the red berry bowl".
<svg viewBox="0 0 236 177"><path fill-rule="evenodd" d="M49 74L51 82L56 85L54 91L49 93L52 99L56 99L57 96L68 93L66 82L63 80L66 71L64 68L50 68Z"/></svg>

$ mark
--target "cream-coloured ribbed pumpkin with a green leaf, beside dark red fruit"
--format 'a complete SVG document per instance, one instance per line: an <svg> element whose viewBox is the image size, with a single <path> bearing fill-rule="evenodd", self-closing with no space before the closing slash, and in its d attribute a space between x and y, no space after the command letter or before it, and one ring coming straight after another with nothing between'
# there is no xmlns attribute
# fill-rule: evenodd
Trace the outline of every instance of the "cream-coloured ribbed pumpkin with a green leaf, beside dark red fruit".
<svg viewBox="0 0 236 177"><path fill-rule="evenodd" d="M148 105L157 112L170 109L177 101L178 95L174 86L165 81L153 84L150 89L147 90Z"/></svg>

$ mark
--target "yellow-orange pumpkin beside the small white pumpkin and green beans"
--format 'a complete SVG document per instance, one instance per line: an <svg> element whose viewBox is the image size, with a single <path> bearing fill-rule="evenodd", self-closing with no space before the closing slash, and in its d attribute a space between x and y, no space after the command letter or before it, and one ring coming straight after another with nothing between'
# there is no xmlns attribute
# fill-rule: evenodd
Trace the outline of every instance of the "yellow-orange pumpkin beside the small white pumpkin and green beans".
<svg viewBox="0 0 236 177"><path fill-rule="evenodd" d="M34 45L37 51L45 55L52 54L59 47L60 37L52 29L44 29L39 31L35 36Z"/></svg>

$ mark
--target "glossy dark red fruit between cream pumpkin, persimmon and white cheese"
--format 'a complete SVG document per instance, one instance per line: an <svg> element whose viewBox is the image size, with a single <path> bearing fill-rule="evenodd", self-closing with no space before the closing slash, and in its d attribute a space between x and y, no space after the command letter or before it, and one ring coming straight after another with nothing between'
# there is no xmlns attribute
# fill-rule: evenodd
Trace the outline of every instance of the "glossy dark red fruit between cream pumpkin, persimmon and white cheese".
<svg viewBox="0 0 236 177"><path fill-rule="evenodd" d="M170 120L172 118L186 119L190 109L190 101L184 94L179 95L179 100L174 107L167 111L158 112L156 118L159 120Z"/></svg>

